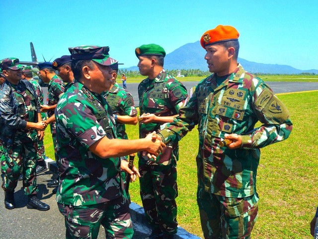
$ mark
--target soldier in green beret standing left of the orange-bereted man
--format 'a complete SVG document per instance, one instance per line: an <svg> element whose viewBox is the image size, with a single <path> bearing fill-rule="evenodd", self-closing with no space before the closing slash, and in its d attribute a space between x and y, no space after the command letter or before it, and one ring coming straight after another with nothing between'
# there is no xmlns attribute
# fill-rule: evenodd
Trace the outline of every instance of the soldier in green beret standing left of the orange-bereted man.
<svg viewBox="0 0 318 239"><path fill-rule="evenodd" d="M135 50L140 74L148 76L138 86L141 138L172 122L187 99L182 83L163 69L164 49L156 44ZM139 154L140 195L148 222L153 226L150 238L173 238L177 232L178 143L167 145L157 162ZM163 233L163 235L162 235Z"/></svg>

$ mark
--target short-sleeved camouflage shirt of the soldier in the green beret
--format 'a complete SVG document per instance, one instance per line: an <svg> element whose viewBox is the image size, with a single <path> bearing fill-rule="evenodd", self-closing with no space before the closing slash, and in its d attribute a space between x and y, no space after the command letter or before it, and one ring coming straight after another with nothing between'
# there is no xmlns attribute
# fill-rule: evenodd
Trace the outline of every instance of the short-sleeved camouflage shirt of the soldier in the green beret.
<svg viewBox="0 0 318 239"><path fill-rule="evenodd" d="M138 86L140 115L143 113L159 113L160 116L174 116L179 114L187 100L187 90L184 85L162 69L154 80L143 80ZM140 123L139 136L146 137L149 132L164 128L165 124ZM157 157L157 163L148 160L147 156L139 153L141 163L168 164L171 159L178 160L178 144L168 144L164 152Z"/></svg>

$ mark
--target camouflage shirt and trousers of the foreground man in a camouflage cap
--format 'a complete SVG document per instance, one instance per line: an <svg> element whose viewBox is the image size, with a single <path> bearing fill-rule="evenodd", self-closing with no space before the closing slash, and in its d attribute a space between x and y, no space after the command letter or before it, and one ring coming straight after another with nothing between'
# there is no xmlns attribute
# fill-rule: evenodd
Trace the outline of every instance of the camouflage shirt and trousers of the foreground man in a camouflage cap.
<svg viewBox="0 0 318 239"><path fill-rule="evenodd" d="M100 224L107 238L131 238L120 158L102 159L88 149L104 136L116 137L106 100L75 81L61 97L55 115L60 162L56 200L66 219L67 238L97 238Z"/></svg>

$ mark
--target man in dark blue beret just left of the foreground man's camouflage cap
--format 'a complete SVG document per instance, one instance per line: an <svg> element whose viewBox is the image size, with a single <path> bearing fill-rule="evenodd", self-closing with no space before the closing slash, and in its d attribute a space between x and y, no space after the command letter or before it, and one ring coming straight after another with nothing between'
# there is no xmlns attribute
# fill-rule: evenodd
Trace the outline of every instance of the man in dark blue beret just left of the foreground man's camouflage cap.
<svg viewBox="0 0 318 239"><path fill-rule="evenodd" d="M70 55L64 55L60 58L56 58L52 67L56 74L61 77L62 81L66 84L64 92L66 92L74 83L74 74L71 68L72 57Z"/></svg>

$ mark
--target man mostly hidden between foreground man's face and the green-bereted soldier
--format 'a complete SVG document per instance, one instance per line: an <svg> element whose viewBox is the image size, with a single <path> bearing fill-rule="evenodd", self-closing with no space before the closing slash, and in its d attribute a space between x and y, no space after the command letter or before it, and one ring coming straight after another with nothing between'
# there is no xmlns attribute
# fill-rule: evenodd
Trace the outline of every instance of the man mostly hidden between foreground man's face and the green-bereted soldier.
<svg viewBox="0 0 318 239"><path fill-rule="evenodd" d="M116 121L117 138L128 139L125 124L137 124L137 110L135 108L133 96L127 90L121 88L116 83L118 63L112 64L110 68L112 69L112 84L109 91L104 92L102 95L114 114L114 119ZM132 154L130 156L134 157L135 154ZM125 156L124 158L125 160L127 160L127 156ZM121 174L124 180L127 198L130 202L130 195L127 189L126 182L126 172L122 171Z"/></svg>

